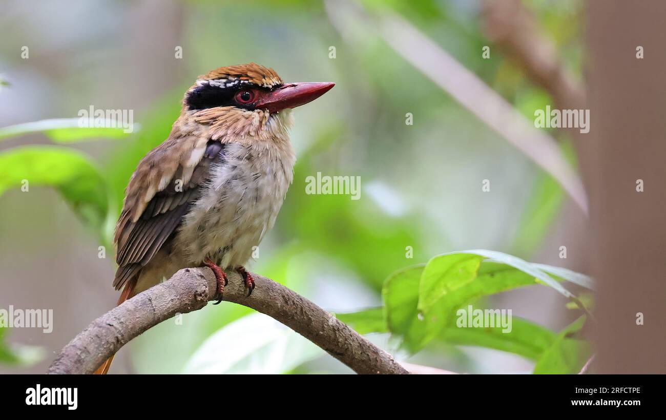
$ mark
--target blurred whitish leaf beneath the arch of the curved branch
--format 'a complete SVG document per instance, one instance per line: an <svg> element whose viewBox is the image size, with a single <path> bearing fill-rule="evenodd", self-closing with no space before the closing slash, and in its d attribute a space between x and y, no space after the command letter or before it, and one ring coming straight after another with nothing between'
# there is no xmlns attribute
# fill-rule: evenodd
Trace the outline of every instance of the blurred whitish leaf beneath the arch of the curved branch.
<svg viewBox="0 0 666 420"><path fill-rule="evenodd" d="M278 321L251 314L208 337L183 373L286 373L323 352Z"/></svg>

